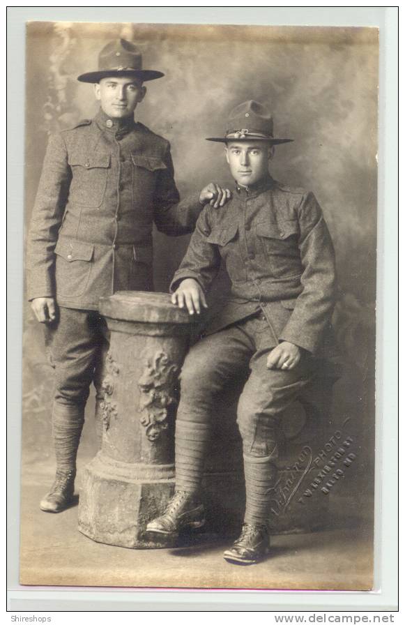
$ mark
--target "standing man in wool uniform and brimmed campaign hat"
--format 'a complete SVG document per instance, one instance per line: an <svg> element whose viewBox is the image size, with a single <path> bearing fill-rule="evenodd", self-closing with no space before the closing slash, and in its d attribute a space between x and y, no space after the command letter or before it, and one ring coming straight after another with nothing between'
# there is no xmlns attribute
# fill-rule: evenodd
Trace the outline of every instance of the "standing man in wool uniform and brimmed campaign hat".
<svg viewBox="0 0 405 625"><path fill-rule="evenodd" d="M46 512L72 500L84 407L107 341L100 297L153 289L153 223L170 236L192 232L204 204L230 197L211 183L179 202L169 142L134 120L144 82L162 76L142 69L132 43L108 43L98 70L78 77L94 85L100 111L49 140L27 249L29 300L56 375Z"/></svg>

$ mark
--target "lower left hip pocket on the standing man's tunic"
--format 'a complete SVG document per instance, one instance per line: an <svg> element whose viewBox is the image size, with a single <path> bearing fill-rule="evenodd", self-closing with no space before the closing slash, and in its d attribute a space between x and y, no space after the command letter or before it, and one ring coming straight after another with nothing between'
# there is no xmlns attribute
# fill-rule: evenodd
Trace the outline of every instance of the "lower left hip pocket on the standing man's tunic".
<svg viewBox="0 0 405 625"><path fill-rule="evenodd" d="M94 246L76 239L56 243L56 296L79 297L89 284Z"/></svg>

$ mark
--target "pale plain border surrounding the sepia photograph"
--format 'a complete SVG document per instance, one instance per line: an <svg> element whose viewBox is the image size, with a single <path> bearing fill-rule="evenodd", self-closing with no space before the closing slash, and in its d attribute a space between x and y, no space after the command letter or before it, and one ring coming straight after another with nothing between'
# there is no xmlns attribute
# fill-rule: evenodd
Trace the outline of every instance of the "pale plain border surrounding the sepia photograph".
<svg viewBox="0 0 405 625"><path fill-rule="evenodd" d="M397 605L397 7L8 8L8 610L395 610ZM22 412L25 22L358 26L380 29L374 590L107 589L18 582ZM348 564L349 566L349 564ZM85 588L85 589L84 589Z"/></svg>

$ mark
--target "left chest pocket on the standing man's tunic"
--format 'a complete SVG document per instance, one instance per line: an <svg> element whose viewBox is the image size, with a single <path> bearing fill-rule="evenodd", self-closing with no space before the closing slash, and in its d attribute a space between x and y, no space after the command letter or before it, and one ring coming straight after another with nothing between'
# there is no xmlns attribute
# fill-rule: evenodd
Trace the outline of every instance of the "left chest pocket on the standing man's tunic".
<svg viewBox="0 0 405 625"><path fill-rule="evenodd" d="M109 154L73 155L69 159L72 170L69 201L98 209L107 188Z"/></svg>

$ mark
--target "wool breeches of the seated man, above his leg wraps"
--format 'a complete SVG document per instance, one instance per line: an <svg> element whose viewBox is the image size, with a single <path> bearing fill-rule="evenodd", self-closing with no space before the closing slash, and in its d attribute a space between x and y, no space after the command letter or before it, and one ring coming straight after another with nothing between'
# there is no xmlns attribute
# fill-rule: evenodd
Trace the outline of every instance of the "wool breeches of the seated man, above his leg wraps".
<svg viewBox="0 0 405 625"><path fill-rule="evenodd" d="M280 417L312 381L319 364L307 352L292 370L268 369L273 347L267 347L268 324L253 317L197 342L181 372L178 421L212 423L221 419L215 400L224 386L250 371L238 402L238 428L243 453L277 459Z"/></svg>

